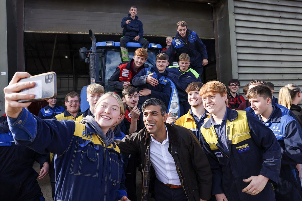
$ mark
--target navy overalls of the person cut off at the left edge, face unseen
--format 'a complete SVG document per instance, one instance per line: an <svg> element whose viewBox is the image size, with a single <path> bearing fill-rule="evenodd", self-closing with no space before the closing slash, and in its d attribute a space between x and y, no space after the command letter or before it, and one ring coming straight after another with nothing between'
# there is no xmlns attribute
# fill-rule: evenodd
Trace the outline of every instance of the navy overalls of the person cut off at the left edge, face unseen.
<svg viewBox="0 0 302 201"><path fill-rule="evenodd" d="M43 167L47 154L15 145L7 121L0 124L0 200L45 200L37 182L34 161Z"/></svg>

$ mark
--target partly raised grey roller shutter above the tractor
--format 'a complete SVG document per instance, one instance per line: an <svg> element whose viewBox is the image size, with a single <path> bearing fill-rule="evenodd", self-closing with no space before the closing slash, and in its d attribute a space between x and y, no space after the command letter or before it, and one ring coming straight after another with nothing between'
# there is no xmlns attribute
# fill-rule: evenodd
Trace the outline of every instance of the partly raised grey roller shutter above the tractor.
<svg viewBox="0 0 302 201"><path fill-rule="evenodd" d="M212 7L178 1L62 1L25 0L24 31L42 33L121 34L120 22L136 5L144 34L175 36L176 23L184 20L199 37L214 39Z"/></svg>

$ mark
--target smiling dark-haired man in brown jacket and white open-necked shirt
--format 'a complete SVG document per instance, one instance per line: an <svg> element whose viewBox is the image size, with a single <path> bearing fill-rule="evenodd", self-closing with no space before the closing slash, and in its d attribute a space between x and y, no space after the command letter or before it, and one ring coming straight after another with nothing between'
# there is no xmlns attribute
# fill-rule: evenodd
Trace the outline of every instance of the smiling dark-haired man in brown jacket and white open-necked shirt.
<svg viewBox="0 0 302 201"><path fill-rule="evenodd" d="M159 99L146 100L142 111L145 128L115 141L121 152L141 156L142 200L147 200L152 178L155 178L156 201L210 199L212 172L191 130L166 124L167 109Z"/></svg>

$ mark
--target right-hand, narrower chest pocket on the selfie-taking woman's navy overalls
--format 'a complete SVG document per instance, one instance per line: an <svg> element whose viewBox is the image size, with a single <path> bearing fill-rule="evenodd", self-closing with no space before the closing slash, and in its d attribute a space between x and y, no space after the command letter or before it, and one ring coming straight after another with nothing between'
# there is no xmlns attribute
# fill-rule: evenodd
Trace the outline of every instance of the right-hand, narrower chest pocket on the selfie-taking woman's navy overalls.
<svg viewBox="0 0 302 201"><path fill-rule="evenodd" d="M120 155L111 148L108 150L108 156L110 164L109 180L120 184L124 172Z"/></svg>

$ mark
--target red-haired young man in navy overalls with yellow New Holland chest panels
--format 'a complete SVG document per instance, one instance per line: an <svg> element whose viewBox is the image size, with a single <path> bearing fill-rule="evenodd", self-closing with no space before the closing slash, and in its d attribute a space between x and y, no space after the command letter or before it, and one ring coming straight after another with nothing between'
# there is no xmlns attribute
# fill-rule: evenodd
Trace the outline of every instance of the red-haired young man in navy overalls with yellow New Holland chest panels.
<svg viewBox="0 0 302 201"><path fill-rule="evenodd" d="M201 87L211 114L201 127L201 146L213 173L217 201L275 201L271 183L280 173L281 151L274 133L251 112L226 107L226 86L210 81Z"/></svg>

